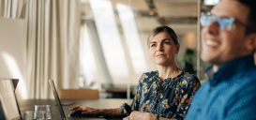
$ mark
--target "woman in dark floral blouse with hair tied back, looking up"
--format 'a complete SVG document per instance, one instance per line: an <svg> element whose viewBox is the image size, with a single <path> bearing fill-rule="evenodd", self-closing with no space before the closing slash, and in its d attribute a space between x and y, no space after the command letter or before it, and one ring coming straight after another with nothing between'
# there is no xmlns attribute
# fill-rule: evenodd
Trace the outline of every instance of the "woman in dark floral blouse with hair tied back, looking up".
<svg viewBox="0 0 256 120"><path fill-rule="evenodd" d="M147 39L151 60L158 70L145 72L139 80L137 93L130 105L117 109L93 109L75 106L71 111L83 114L124 116L128 120L169 118L184 119L194 93L201 86L198 78L176 66L175 54L180 44L173 29L158 26Z"/></svg>

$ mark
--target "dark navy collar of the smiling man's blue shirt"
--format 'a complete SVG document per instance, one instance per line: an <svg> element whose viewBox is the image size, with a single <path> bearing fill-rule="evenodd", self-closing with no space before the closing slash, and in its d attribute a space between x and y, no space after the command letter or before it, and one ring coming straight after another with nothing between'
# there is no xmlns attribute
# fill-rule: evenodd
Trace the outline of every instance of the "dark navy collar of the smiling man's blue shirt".
<svg viewBox="0 0 256 120"><path fill-rule="evenodd" d="M212 81L212 85L216 85L220 80L229 80L234 75L254 66L254 57L253 54L250 54L234 59L233 61L218 67L218 71L216 73L213 72L212 66L207 67L205 72L210 81L214 80Z"/></svg>

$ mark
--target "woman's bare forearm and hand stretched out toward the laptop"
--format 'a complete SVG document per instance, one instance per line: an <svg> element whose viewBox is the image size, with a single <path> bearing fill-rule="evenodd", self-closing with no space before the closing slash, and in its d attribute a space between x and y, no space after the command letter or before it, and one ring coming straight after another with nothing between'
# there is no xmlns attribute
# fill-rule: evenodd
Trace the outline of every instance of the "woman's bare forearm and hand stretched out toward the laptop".
<svg viewBox="0 0 256 120"><path fill-rule="evenodd" d="M86 114L86 115L121 116L121 108L116 108L116 109L94 109L94 108L78 105L78 106L75 106L73 108L70 108L69 110L70 111L82 110L82 111L84 111L82 114Z"/></svg>

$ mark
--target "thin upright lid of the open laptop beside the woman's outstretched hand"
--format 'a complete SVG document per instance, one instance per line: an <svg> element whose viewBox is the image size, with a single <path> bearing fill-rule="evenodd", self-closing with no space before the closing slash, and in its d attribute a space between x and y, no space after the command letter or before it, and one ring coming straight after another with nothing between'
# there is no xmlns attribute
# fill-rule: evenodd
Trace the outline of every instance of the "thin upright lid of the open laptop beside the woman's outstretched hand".
<svg viewBox="0 0 256 120"><path fill-rule="evenodd" d="M62 120L66 120L66 116L65 116L65 113L64 113L63 108L62 108L62 106L61 106L61 102L60 102L58 93L57 93L57 91L56 91L54 82L53 82L53 80L49 80L49 82L50 82L50 86L51 86L51 88L52 88L52 90L53 90L53 96L54 96L55 101L56 101L56 104L57 104L57 106L58 106L58 109L59 109L59 113L60 113L60 115L61 115L61 118L62 118Z"/></svg>

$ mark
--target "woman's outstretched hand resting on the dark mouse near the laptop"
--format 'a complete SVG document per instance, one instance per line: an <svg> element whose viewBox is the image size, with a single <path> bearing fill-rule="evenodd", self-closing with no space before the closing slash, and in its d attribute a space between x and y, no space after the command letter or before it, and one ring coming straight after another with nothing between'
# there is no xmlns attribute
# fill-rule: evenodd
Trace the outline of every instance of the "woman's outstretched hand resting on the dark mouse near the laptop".
<svg viewBox="0 0 256 120"><path fill-rule="evenodd" d="M81 105L70 108L69 110L70 111L82 110L82 111L84 111L82 114L86 114L86 115L98 115L98 113L99 113L98 109L89 108L89 107L85 107L85 106L81 106Z"/></svg>

